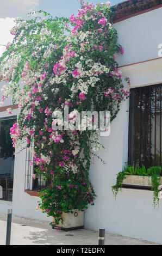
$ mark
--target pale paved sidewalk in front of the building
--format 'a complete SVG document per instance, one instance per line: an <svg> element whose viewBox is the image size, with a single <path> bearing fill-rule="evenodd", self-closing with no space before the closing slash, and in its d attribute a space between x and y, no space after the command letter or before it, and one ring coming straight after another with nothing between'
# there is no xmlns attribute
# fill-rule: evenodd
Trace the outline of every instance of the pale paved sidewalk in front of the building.
<svg viewBox="0 0 162 256"><path fill-rule="evenodd" d="M0 245L5 245L7 216L0 214ZM98 232L88 229L57 231L49 222L13 216L11 245L98 245ZM105 245L157 245L140 239L105 234Z"/></svg>

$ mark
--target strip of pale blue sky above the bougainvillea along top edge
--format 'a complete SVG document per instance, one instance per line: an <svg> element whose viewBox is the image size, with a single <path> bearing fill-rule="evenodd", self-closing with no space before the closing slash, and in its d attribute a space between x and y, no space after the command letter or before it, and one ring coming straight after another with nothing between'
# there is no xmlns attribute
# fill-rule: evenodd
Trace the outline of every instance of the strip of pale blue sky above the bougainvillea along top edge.
<svg viewBox="0 0 162 256"><path fill-rule="evenodd" d="M123 0L112 0L111 5ZM107 2L107 0L87 0L94 4ZM0 18L26 17L29 10L45 10L53 16L70 17L77 14L79 2L77 0L4 0L0 1Z"/></svg>

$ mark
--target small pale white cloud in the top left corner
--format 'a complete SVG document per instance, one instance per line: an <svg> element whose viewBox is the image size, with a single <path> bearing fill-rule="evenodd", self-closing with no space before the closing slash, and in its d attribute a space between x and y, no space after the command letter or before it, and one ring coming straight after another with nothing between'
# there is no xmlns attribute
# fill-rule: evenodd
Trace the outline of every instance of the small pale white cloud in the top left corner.
<svg viewBox="0 0 162 256"><path fill-rule="evenodd" d="M34 9L40 0L4 0L3 5L7 7L14 7L21 11L28 11L29 9Z"/></svg>

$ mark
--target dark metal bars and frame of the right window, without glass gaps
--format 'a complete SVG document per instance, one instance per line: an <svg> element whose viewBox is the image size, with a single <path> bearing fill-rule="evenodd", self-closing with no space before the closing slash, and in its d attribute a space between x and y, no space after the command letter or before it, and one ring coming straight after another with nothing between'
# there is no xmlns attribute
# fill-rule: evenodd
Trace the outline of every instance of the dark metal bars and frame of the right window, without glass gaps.
<svg viewBox="0 0 162 256"><path fill-rule="evenodd" d="M141 166L141 164L143 163L144 165L146 164L146 166L155 166L155 165L159 165L159 166L161 166L161 130L162 130L162 127L161 127L161 115L162 115L162 108L161 108L161 95L160 95L160 107L159 108L157 108L157 102L159 102L159 101L157 101L157 88L160 88L160 94L161 94L161 88L162 88L162 84L161 83L159 83L159 84L154 84L154 85L151 85L151 86L144 86L144 87L135 87L135 88L132 88L132 89L130 89L130 99L129 99L129 126L128 126L128 164L130 164L130 165L134 165L134 166L136 166L136 165L139 165L139 166ZM155 90L155 107L154 108L152 108L152 105L153 105L153 101L152 101L152 95L153 95L153 93L154 93L154 90ZM145 113L146 112L146 91L147 91L147 93L149 93L149 106L150 106L150 109L149 109L149 111L150 111L150 113L149 113L149 122L150 122L150 127L149 127L149 164L148 164L148 162L144 162L144 161L141 161L141 159L140 159L140 157L141 157L141 148L139 149L139 162L136 162L136 159L135 159L135 150L136 150L136 148L137 147L134 147L134 149L133 149L133 139L134 139L134 135L133 135L133 133L135 133L135 135L136 135L136 132L137 131L135 131L135 129L136 129L136 125L134 125L134 119L135 119L135 117L134 117L134 115L135 115L135 110L136 109L138 109L138 105L136 105L136 102L138 101L138 100L136 100L136 97L133 95L133 94L135 94L135 93L139 93L140 94L140 100L142 99L141 97L142 97L142 93L143 93L143 96L144 96L144 93L145 93L145 96L144 96L144 99L145 99L145 108L144 109L142 109L142 111L143 111L143 113ZM133 98L134 97L134 98ZM136 102L134 102L134 99L135 99L135 101ZM134 106L135 105L135 106ZM141 101L140 101L140 115L141 115L141 113L142 113L142 111L141 111L141 108L142 108L142 103L141 103ZM136 109L135 109L135 107L136 107ZM151 150L153 149L153 144L152 144L152 141L153 141L153 139L154 139L154 141L155 141L155 145L154 145L154 155L156 156L156 151L157 151L157 149L156 149L156 141L157 141L157 138L156 138L156 132L157 132L157 126L156 126L156 119L157 119L157 113L158 113L158 111L159 111L159 113L160 113L160 132L159 132L159 136L160 136L160 139L159 139L159 148L160 148L160 151L159 151L159 162L157 163L157 161L155 160L155 157L154 157L154 161L152 160L152 156L151 156L151 154L153 154L153 153L151 153ZM133 113L134 112L134 113ZM138 112L138 111L136 111L136 112ZM151 118L151 115L152 115L152 113L154 114L154 119L153 118ZM146 121L146 119L147 119L148 117L147 117L147 112L146 112L146 115L145 115L145 125L146 125L146 123L147 123L147 121ZM155 122L155 128L154 128L154 138L152 137L152 134L153 134L153 129L152 129L152 121L154 120L154 122ZM142 120L140 120L140 126L141 126L141 123L142 123ZM145 126L146 127L146 126ZM141 127L140 127L141 128ZM142 129L141 129L142 130ZM141 132L142 131L138 131L138 132L140 132L140 139L141 139ZM139 140L140 140L139 139ZM146 153L146 131L145 131L145 140L144 140L144 142L145 142L145 153ZM141 141L140 141L140 147L141 147ZM132 157L132 151L134 150L134 157Z"/></svg>

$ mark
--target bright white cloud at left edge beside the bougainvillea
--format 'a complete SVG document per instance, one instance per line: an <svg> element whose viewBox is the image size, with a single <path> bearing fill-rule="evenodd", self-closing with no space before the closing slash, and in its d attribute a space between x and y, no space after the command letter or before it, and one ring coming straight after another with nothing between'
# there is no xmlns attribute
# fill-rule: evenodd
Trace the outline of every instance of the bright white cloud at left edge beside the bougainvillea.
<svg viewBox="0 0 162 256"><path fill-rule="evenodd" d="M14 36L10 34L10 29L15 25L14 18L0 19L0 45L7 45L8 42L12 42ZM5 51L5 46L0 46L0 56Z"/></svg>

